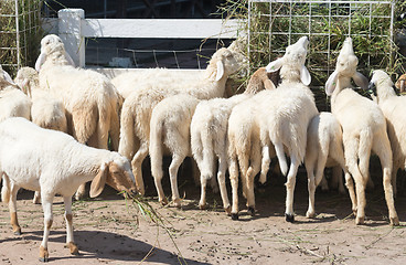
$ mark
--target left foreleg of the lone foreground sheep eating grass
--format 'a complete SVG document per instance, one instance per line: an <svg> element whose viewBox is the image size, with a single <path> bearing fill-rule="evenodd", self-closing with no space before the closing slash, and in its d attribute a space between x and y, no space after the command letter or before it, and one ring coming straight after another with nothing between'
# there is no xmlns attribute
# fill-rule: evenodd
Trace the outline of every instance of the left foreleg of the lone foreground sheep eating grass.
<svg viewBox="0 0 406 265"><path fill-rule="evenodd" d="M50 236L50 230L53 222L53 214L52 214L53 195L47 195L42 192L41 197L42 197L42 209L44 211L44 236L40 245L40 262L47 262L50 257L47 251L47 240Z"/></svg>

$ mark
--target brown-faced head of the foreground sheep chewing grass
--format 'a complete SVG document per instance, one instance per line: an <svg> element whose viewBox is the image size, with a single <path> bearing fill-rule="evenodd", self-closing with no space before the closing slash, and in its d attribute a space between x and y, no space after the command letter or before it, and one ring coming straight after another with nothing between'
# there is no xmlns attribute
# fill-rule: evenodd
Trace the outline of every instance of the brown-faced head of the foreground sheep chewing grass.
<svg viewBox="0 0 406 265"><path fill-rule="evenodd" d="M106 183L117 191L136 193L136 180L128 159L116 152L114 156L113 160L100 165L99 171L90 184L90 198L98 197Z"/></svg>

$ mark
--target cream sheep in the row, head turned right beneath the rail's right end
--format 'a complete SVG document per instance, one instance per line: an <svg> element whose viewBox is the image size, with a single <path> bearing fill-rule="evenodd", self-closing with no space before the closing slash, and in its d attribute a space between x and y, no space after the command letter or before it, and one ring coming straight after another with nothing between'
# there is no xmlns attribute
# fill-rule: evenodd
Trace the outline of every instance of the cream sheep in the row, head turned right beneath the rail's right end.
<svg viewBox="0 0 406 265"><path fill-rule="evenodd" d="M154 106L163 98L180 93L199 99L221 97L228 75L238 68L234 53L222 47L213 54L206 70L199 77L175 74L175 78L171 78L168 72L165 82L159 77L133 84L137 89L122 104L119 153L132 159L131 166L141 194L145 193L141 163L148 155L150 117Z"/></svg>

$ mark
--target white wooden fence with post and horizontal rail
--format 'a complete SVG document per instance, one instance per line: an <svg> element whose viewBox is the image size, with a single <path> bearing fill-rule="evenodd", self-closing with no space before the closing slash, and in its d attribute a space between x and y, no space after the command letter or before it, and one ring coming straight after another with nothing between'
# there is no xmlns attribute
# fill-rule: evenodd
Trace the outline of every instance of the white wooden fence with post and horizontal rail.
<svg viewBox="0 0 406 265"><path fill-rule="evenodd" d="M85 67L85 38L235 39L242 35L239 23L221 19L85 19L83 9L63 9L57 19L44 19L43 28L60 35L75 64ZM113 72L120 70L100 71L115 75Z"/></svg>

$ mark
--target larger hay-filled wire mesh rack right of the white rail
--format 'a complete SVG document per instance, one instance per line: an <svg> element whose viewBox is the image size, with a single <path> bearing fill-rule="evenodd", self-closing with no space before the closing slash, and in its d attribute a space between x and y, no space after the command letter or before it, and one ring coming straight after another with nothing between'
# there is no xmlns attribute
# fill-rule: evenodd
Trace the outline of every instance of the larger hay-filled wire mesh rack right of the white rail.
<svg viewBox="0 0 406 265"><path fill-rule="evenodd" d="M394 70L394 1L249 0L252 67L282 55L287 45L308 35L311 86L319 105L325 103L320 88L334 70L346 36L353 39L364 74L372 68Z"/></svg>

